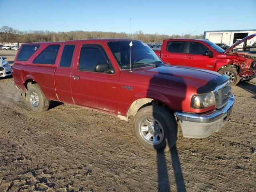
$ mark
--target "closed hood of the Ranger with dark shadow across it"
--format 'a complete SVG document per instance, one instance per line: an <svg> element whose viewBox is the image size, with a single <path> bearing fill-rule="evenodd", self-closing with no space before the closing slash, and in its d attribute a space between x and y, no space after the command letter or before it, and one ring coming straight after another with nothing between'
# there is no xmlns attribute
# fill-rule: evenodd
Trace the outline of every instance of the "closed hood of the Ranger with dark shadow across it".
<svg viewBox="0 0 256 192"><path fill-rule="evenodd" d="M193 87L194 90L198 90L198 88L208 84L210 81L220 79L223 76L222 74L209 70L170 65L138 70L135 73L147 76L154 85L168 88L171 86L178 90L184 89L184 86L186 88Z"/></svg>

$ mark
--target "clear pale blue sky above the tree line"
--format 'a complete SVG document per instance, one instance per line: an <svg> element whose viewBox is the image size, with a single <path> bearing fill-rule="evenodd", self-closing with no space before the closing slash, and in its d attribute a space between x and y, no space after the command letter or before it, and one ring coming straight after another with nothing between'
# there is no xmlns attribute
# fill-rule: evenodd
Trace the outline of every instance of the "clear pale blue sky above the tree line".
<svg viewBox="0 0 256 192"><path fill-rule="evenodd" d="M0 27L203 34L256 29L256 0L0 0Z"/></svg>

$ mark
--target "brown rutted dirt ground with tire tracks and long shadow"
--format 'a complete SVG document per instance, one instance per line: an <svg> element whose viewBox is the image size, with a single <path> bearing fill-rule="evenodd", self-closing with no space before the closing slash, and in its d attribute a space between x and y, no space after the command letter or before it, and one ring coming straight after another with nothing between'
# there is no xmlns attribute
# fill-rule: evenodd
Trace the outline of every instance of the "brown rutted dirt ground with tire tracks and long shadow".
<svg viewBox="0 0 256 192"><path fill-rule="evenodd" d="M256 191L256 79L232 87L230 121L165 154L144 150L132 120L59 102L36 113L0 79L0 192Z"/></svg>

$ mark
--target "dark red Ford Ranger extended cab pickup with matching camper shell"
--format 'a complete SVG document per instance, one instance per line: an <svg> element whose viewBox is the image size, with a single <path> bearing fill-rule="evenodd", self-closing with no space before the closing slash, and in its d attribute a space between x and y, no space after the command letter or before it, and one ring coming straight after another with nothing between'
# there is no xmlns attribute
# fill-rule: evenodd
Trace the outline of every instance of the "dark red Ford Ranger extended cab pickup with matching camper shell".
<svg viewBox="0 0 256 192"><path fill-rule="evenodd" d="M184 137L204 138L218 131L234 103L228 76L164 65L137 40L22 44L12 69L32 110L47 110L55 100L122 120L134 116L136 138L152 151L174 146L176 119Z"/></svg>

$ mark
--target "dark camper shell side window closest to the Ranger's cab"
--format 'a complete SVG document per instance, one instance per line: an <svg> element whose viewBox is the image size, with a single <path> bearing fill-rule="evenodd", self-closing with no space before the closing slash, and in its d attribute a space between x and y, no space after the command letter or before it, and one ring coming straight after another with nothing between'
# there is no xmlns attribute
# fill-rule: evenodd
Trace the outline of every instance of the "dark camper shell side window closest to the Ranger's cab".
<svg viewBox="0 0 256 192"><path fill-rule="evenodd" d="M47 46L33 61L35 64L55 64L60 45Z"/></svg>

